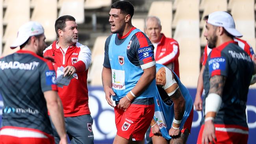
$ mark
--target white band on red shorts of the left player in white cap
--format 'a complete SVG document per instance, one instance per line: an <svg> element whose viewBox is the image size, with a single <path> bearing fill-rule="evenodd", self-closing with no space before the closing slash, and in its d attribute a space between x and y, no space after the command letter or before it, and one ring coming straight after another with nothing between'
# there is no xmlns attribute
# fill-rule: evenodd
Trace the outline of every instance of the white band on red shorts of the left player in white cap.
<svg viewBox="0 0 256 144"><path fill-rule="evenodd" d="M0 135L9 135L13 137L29 137L29 138L48 138L43 133L36 131L20 130L20 129L9 129L5 128L0 131Z"/></svg>

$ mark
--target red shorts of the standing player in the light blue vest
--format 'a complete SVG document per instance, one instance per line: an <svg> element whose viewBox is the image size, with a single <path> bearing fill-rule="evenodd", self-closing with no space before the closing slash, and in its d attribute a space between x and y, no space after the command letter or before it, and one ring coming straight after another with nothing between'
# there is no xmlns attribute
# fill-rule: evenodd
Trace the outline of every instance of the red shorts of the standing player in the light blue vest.
<svg viewBox="0 0 256 144"><path fill-rule="evenodd" d="M115 106L115 124L117 135L132 140L143 140L145 133L154 116L154 104L137 105L132 104L126 111L122 111Z"/></svg>

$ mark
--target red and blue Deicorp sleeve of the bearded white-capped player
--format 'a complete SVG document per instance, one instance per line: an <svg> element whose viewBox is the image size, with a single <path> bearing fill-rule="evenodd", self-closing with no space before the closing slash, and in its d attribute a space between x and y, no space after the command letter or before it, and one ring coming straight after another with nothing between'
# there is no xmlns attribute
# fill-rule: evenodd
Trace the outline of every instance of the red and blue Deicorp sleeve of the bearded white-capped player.
<svg viewBox="0 0 256 144"><path fill-rule="evenodd" d="M209 79L215 75L228 76L229 56L223 51L213 49L208 56Z"/></svg>

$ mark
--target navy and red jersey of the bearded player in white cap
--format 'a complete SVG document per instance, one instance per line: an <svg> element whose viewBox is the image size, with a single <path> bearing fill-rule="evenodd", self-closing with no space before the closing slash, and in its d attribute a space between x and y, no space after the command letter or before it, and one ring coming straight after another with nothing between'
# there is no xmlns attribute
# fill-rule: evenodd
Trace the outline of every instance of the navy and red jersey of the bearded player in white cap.
<svg viewBox="0 0 256 144"><path fill-rule="evenodd" d="M248 128L245 109L253 71L254 66L250 56L235 41L225 42L221 46L212 49L203 73L204 109L205 100L210 89L210 78L215 75L226 78L222 103L215 117L215 124Z"/></svg>

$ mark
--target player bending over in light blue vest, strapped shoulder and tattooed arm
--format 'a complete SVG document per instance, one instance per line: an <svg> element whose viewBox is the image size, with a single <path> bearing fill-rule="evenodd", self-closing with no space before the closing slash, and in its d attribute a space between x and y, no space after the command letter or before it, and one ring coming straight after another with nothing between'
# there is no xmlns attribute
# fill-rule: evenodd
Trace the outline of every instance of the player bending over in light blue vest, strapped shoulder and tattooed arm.
<svg viewBox="0 0 256 144"><path fill-rule="evenodd" d="M153 143L186 143L193 120L189 91L172 70L161 64L156 64L156 87L150 132Z"/></svg>

